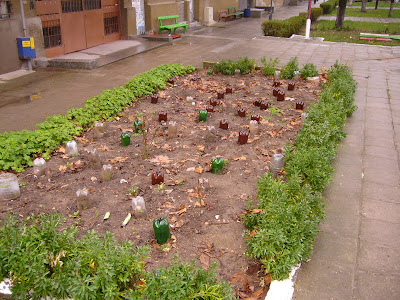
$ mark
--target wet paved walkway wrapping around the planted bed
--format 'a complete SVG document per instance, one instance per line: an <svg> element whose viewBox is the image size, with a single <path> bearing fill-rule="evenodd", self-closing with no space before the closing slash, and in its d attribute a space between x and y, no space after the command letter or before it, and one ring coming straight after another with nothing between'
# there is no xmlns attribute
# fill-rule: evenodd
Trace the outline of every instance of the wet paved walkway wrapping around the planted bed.
<svg viewBox="0 0 400 300"><path fill-rule="evenodd" d="M290 8L290 14L305 11ZM289 9L281 13L289 17ZM279 18L280 12L274 14ZM267 18L267 17L266 17ZM163 63L193 64L249 56L297 56L318 68L338 60L353 68L358 110L346 125L335 173L325 193L311 261L304 263L295 299L400 299L400 48L261 36L261 19L197 30L169 46L95 70L39 70L0 85L0 132L33 128L46 115L82 106L103 89ZM171 55L178 53L178 55ZM40 93L26 103L26 95Z"/></svg>

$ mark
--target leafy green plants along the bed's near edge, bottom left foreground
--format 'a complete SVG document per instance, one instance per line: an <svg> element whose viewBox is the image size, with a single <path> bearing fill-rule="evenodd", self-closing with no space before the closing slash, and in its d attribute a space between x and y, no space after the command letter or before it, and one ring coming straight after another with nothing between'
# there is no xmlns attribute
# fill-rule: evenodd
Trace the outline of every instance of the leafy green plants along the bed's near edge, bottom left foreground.
<svg viewBox="0 0 400 300"><path fill-rule="evenodd" d="M176 259L169 268L144 270L149 248L117 243L111 233L64 227L58 214L10 215L0 225L0 272L13 299L234 299L232 287Z"/></svg>

